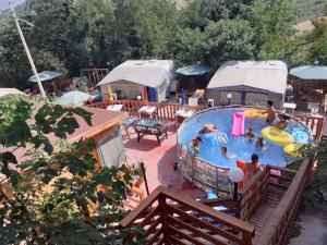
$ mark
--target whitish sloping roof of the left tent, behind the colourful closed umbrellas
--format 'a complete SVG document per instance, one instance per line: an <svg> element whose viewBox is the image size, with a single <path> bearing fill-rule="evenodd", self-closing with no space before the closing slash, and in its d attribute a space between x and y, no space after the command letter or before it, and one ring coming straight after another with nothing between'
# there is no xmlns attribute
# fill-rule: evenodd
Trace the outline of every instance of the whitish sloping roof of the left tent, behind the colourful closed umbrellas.
<svg viewBox="0 0 327 245"><path fill-rule="evenodd" d="M167 76L171 76L171 60L129 60L114 68L99 85L119 81L129 81L148 87L159 86Z"/></svg>

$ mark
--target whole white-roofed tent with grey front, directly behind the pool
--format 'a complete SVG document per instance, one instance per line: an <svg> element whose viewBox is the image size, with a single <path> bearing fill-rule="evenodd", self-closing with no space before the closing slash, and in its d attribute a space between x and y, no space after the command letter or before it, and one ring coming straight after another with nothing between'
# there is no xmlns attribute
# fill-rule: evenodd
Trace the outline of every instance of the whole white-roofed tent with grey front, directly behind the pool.
<svg viewBox="0 0 327 245"><path fill-rule="evenodd" d="M287 88L288 68L282 61L229 61L223 63L207 86L215 105L265 106L272 100L281 108Z"/></svg>

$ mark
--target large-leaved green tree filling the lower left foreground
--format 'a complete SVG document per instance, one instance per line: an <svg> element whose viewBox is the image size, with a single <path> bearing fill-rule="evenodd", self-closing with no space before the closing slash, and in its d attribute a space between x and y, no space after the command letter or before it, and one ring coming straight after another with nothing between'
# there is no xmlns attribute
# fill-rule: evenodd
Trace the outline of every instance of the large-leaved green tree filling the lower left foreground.
<svg viewBox="0 0 327 245"><path fill-rule="evenodd" d="M124 215L131 170L96 170L93 142L65 142L75 117L90 125L89 112L11 96L0 114L1 244L113 244L126 234L112 224Z"/></svg>

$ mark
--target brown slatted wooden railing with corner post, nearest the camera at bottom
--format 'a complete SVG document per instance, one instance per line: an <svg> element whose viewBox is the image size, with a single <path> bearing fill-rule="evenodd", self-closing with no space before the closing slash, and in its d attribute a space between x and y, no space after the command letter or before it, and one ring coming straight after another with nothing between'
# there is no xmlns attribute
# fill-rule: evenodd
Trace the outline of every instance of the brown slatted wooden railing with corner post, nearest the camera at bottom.
<svg viewBox="0 0 327 245"><path fill-rule="evenodd" d="M157 187L120 225L145 229L146 244L251 245L254 226L189 197ZM130 234L129 238L133 238Z"/></svg>

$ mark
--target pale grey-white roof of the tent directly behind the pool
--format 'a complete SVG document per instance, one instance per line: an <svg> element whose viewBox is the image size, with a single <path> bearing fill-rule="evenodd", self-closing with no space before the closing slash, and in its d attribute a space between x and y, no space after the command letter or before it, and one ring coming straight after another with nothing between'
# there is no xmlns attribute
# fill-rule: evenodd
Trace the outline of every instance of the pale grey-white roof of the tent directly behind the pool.
<svg viewBox="0 0 327 245"><path fill-rule="evenodd" d="M288 68L282 61L228 61L215 73L207 88L246 86L284 94Z"/></svg>

